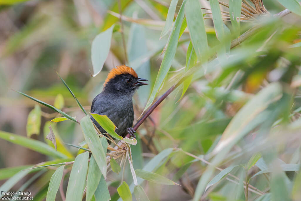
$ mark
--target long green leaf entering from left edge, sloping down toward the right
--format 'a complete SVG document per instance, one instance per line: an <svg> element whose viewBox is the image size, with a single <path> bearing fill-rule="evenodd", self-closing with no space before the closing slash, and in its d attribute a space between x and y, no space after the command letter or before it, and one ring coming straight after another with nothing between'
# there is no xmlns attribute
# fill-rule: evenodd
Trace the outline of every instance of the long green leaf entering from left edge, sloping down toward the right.
<svg viewBox="0 0 301 201"><path fill-rule="evenodd" d="M57 152L54 148L48 144L42 143L38 140L29 139L20 135L8 133L0 130L0 138L7 140L11 143L24 146L28 149L34 150L36 152L52 156L54 158L68 158L67 155Z"/></svg>

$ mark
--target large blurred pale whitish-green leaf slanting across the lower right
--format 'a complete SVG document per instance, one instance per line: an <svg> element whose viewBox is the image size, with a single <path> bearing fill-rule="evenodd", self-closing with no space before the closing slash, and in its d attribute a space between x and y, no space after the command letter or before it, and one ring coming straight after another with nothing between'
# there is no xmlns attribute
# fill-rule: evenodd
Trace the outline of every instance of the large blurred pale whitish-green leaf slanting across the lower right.
<svg viewBox="0 0 301 201"><path fill-rule="evenodd" d="M242 137L249 133L250 130L260 125L263 119L266 119L271 115L266 108L279 100L281 95L281 85L279 83L271 83L250 99L244 107L237 112L234 118L232 118L222 134L219 143L211 152L212 155L216 155L211 160L213 165L208 166L200 177L194 194L194 201L199 200L206 189L211 175L214 172L214 166L219 165L222 159L225 158L225 155Z"/></svg>

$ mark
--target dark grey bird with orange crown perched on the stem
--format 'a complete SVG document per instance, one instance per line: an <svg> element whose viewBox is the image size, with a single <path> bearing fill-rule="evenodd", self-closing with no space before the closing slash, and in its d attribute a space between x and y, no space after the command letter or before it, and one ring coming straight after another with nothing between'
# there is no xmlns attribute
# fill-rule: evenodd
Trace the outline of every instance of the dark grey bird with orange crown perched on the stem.
<svg viewBox="0 0 301 201"><path fill-rule="evenodd" d="M136 131L132 128L132 97L139 86L147 85L142 81L148 80L138 77L133 68L126 65L116 66L108 73L102 92L93 99L91 113L107 115L117 127L115 132L118 135L125 137L129 133L136 138ZM107 133L92 116L90 118L101 133Z"/></svg>

